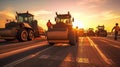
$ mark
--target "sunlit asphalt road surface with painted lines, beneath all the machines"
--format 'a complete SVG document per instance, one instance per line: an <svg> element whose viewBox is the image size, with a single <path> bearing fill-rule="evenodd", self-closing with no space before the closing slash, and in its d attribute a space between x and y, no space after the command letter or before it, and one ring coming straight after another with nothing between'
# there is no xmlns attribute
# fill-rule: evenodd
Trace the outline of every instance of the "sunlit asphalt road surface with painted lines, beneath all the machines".
<svg viewBox="0 0 120 67"><path fill-rule="evenodd" d="M47 41L22 44L14 49L0 46L1 67L120 67L120 41L109 37L79 37L75 46L50 46Z"/></svg>

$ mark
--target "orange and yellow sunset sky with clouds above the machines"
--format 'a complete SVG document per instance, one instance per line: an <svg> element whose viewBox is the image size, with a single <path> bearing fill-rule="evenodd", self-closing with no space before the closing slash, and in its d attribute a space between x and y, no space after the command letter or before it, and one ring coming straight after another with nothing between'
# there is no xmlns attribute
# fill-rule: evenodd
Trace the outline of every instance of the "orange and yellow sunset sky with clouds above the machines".
<svg viewBox="0 0 120 67"><path fill-rule="evenodd" d="M105 25L111 31L116 22L120 24L120 0L0 0L0 27L6 19L14 19L16 11L34 14L44 29L49 19L55 23L55 12L68 11L85 29Z"/></svg>

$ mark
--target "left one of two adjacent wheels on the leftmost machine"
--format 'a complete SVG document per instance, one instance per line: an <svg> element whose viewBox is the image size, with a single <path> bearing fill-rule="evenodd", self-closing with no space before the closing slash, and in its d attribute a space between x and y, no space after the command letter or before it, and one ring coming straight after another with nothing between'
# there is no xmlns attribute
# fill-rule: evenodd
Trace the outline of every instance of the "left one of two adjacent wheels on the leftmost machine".
<svg viewBox="0 0 120 67"><path fill-rule="evenodd" d="M20 30L17 35L17 39L21 42L27 41L28 33L26 30Z"/></svg>

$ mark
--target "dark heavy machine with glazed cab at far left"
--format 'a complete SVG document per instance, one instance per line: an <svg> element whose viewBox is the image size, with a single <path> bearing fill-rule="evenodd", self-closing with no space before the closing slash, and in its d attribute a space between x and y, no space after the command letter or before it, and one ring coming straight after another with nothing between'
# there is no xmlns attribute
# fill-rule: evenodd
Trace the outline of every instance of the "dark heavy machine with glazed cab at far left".
<svg viewBox="0 0 120 67"><path fill-rule="evenodd" d="M40 28L34 15L28 11L26 13L16 12L16 22L10 21L5 24L5 28L0 29L0 39L11 41L29 41L40 36Z"/></svg>

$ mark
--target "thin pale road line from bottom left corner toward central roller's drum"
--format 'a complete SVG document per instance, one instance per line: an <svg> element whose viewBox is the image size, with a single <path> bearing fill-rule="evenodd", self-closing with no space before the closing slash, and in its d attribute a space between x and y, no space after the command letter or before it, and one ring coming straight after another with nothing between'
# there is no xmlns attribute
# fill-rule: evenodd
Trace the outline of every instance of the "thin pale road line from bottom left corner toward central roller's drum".
<svg viewBox="0 0 120 67"><path fill-rule="evenodd" d="M52 47L53 47L53 46L52 46ZM26 56L26 57L24 57L24 58L22 58L22 59L19 59L19 60L17 60L17 61L11 62L11 63L9 63L9 64L7 64L7 65L4 65L3 67L14 67L15 65L17 65L17 64L19 64L19 63L22 63L22 62L24 62L24 61L26 61L26 60L29 60L29 59L35 57L36 55L38 55L38 54L40 54L40 53L42 53L42 52L44 52L44 51L46 51L46 50L51 49L52 47L48 47L48 48L46 48L46 49L44 49L44 50L42 50L42 51L39 51L39 52L37 52L37 53L35 53L35 54L29 55L29 56Z"/></svg>

